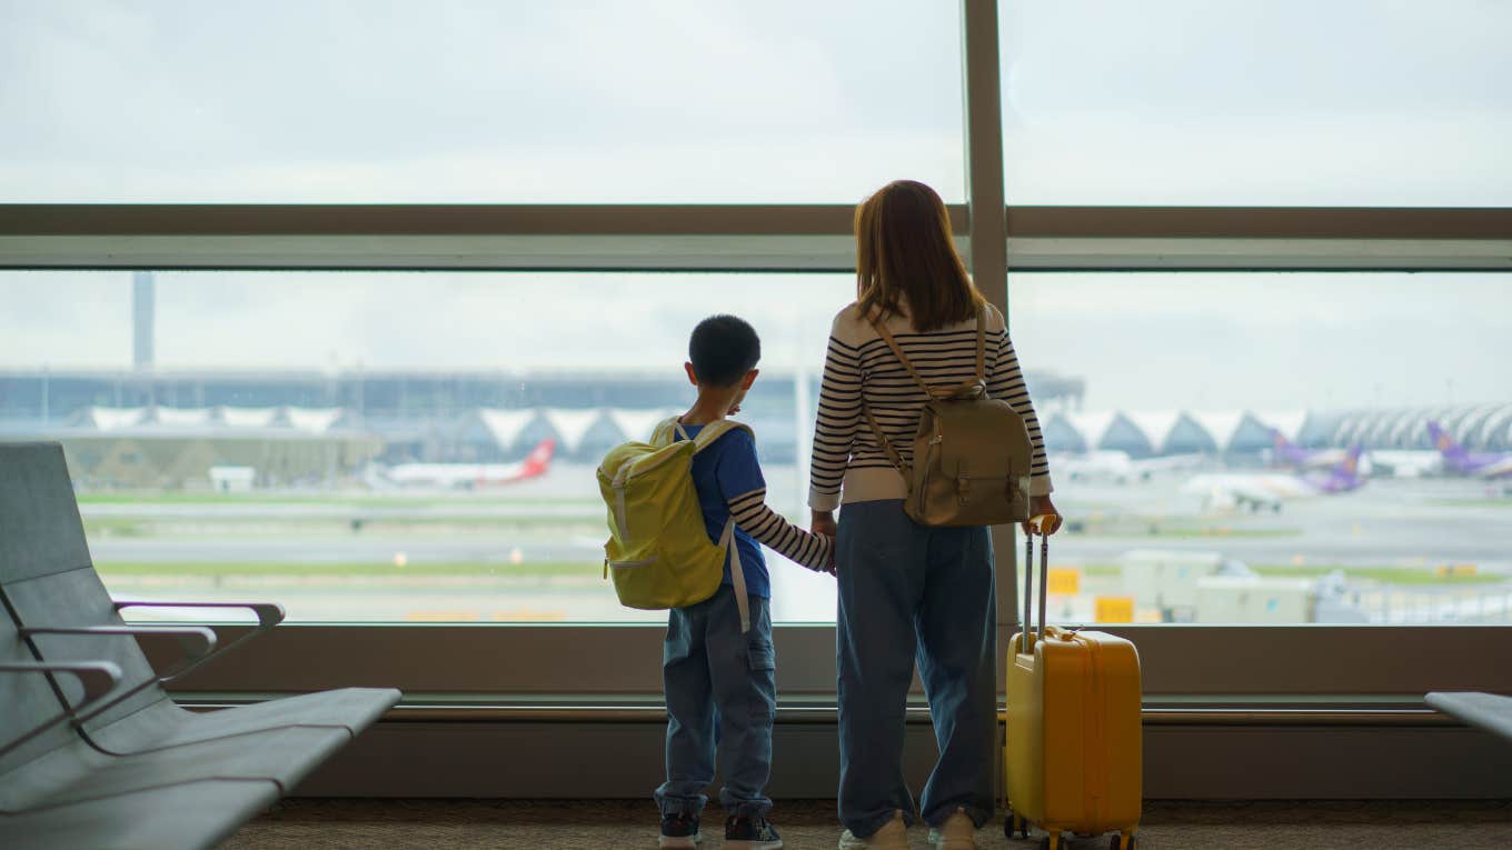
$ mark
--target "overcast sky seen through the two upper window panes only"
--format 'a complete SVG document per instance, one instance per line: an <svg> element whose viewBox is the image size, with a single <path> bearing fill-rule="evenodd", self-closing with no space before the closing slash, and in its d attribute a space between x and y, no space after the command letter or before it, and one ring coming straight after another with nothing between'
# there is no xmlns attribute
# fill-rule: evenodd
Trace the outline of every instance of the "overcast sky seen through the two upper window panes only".
<svg viewBox="0 0 1512 850"><path fill-rule="evenodd" d="M962 200L954 0L0 0L0 201ZM1016 203L1512 204L1506 0L1005 0Z"/></svg>

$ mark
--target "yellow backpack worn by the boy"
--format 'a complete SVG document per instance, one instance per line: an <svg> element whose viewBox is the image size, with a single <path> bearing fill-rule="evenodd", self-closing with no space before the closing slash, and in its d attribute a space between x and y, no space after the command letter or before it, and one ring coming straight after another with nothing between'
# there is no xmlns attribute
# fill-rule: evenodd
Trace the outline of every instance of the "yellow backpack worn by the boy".
<svg viewBox="0 0 1512 850"><path fill-rule="evenodd" d="M603 457L599 492L609 511L603 576L614 576L621 605L655 611L703 602L720 590L729 552L741 631L750 631L735 517L724 523L718 543L709 541L692 484L692 455L733 428L750 433L739 422L721 419L689 440L673 417L656 427L652 442L621 443Z"/></svg>

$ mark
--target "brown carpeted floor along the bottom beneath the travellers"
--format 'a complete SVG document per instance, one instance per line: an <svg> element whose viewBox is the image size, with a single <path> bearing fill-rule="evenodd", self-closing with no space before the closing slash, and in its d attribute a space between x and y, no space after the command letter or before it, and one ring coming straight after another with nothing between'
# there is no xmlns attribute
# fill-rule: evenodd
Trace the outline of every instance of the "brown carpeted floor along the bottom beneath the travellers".
<svg viewBox="0 0 1512 850"><path fill-rule="evenodd" d="M723 824L711 809L705 847L717 850ZM830 848L839 839L835 803L779 802L773 823L792 850ZM658 820L647 800L325 800L292 799L251 821L222 850L405 848L588 850L656 847ZM927 830L909 830L927 847ZM978 847L1039 847L1007 841L1001 821ZM1105 848L1107 839L1072 847ZM1512 800L1497 802L1151 802L1140 847L1169 848L1512 848Z"/></svg>

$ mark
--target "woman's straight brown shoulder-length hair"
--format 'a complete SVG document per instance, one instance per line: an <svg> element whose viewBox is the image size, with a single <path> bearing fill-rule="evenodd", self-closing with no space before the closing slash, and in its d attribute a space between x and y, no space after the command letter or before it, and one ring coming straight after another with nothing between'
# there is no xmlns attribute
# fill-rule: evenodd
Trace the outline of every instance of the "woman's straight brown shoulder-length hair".
<svg viewBox="0 0 1512 850"><path fill-rule="evenodd" d="M894 180L856 207L856 301L877 319L907 306L913 330L965 322L986 304L951 242L945 201L924 183Z"/></svg>

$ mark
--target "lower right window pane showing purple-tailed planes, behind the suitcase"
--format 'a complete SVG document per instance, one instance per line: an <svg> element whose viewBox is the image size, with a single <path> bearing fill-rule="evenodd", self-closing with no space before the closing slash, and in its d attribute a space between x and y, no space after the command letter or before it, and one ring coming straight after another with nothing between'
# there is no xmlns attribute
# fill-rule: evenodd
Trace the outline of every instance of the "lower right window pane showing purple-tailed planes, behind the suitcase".
<svg viewBox="0 0 1512 850"><path fill-rule="evenodd" d="M1512 623L1512 275L1009 284L1052 623Z"/></svg>

